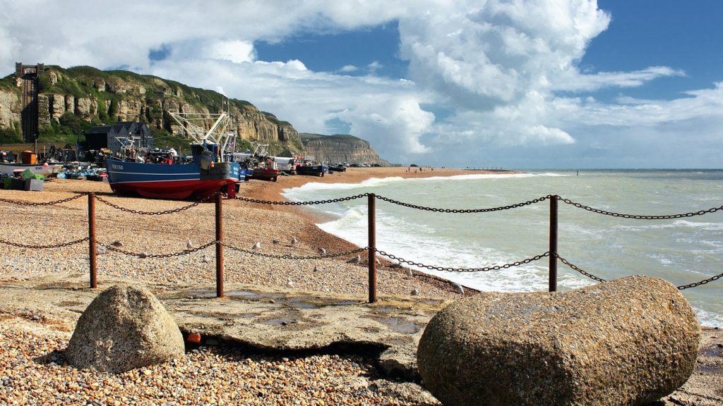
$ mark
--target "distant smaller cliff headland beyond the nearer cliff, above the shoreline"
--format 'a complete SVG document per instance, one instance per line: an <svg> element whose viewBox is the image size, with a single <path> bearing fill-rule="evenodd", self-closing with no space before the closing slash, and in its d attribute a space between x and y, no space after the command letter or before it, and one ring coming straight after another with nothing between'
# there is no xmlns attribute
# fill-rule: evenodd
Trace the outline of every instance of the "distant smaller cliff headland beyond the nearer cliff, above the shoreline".
<svg viewBox="0 0 723 406"><path fill-rule="evenodd" d="M301 133L304 152L323 163L389 163L377 155L369 142L351 135L321 135Z"/></svg>

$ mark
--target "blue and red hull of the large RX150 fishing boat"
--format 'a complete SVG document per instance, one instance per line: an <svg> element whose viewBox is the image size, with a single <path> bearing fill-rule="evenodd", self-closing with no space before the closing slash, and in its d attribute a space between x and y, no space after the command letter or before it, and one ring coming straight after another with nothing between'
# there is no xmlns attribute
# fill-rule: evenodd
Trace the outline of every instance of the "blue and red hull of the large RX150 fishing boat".
<svg viewBox="0 0 723 406"><path fill-rule="evenodd" d="M138 194L154 199L205 199L218 191L235 194L245 170L238 163L214 163L204 170L198 163L162 164L106 160L108 183L116 194Z"/></svg>

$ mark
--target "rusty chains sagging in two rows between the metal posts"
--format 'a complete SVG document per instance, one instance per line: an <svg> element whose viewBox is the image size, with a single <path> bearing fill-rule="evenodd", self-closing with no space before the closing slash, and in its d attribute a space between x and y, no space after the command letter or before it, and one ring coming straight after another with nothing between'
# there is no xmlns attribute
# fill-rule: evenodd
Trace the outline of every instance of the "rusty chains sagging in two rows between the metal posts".
<svg viewBox="0 0 723 406"><path fill-rule="evenodd" d="M168 215L168 214L174 214L174 213L182 212L182 211L184 211L184 210L189 210L189 209L191 209L192 207L198 206L198 205L199 205L200 203L202 203L202 202L209 202L209 201L211 201L212 199L215 199L215 197L216 197L217 195L218 195L218 194L214 194L213 196L210 196L208 199L203 199L203 200L200 200L200 201L192 202L192 203L187 204L187 205L185 205L185 206L177 207L177 208L175 208L175 209L163 210L163 211L158 211L158 212L150 212L150 211L142 211L142 210L133 210L133 209L129 209L129 208L127 208L127 207L121 207L119 204L114 204L113 202L110 202L110 201L108 201L108 200L106 200L106 199L103 199L103 198L100 197L100 196L97 196L97 195L93 194L93 196L95 196L95 199L98 200L99 202L102 202L103 204L106 204L106 205L108 205L109 207L114 208L115 210L120 210L120 211L123 211L123 212L129 212L129 213L132 213L132 214L134 214L134 215ZM570 199L565 199L565 198L562 198L561 196L552 195L552 194L548 194L547 196L542 196L542 197L539 197L539 198L537 198L537 199L532 199L532 200L529 200L529 201L527 201L527 202L521 202L521 203L517 203L517 204L510 204L510 205L507 205L507 206L490 207L490 208L484 208L484 209L469 209L469 210L465 210L465 209L444 209L444 208L438 208L438 207L424 207L424 206L419 206L419 205L416 205L416 204L410 204L410 203L406 203L406 202L400 202L400 201L395 200L395 199L390 199L390 198L385 197L385 196L380 196L380 195L370 194L370 193L357 194L357 195L354 195L354 196L347 196L347 197L342 197L342 198L338 198L338 199L317 200L317 201L313 201L313 202L281 202L281 201L270 201L270 200L262 200L262 199L251 199L251 198L244 197L244 196L229 197L229 196L227 196L226 194L223 194L223 196L226 197L227 199L239 200L239 201L241 201L241 202L249 202L249 203L255 203L255 204L269 204L269 205L283 205L283 206L307 206L307 205L316 205L316 204L330 204L330 203L338 203L338 202L348 202L348 201L351 201L351 200L354 200L354 199L361 199L361 198L368 197L368 196L371 196L371 195L375 196L376 199L380 199L380 200L382 200L382 201L384 201L384 202L388 202L388 203L390 203L390 204L396 204L396 205L403 206L403 207L408 207L408 208L415 209L415 210L424 210L424 211L429 211L429 212L453 213L453 214L458 214L458 213L483 213L483 212L497 212L497 211L501 211L501 210L511 210L511 209L515 209L515 208L519 208L519 207L525 207L525 206L528 206L528 205L530 205L530 204L536 204L536 203L544 202L544 201L549 200L549 199L560 200L560 201L562 201L562 202L565 202L566 204L572 205L573 207L578 207L578 208L580 208L580 209L587 210L587 211L589 211L589 212L598 213L598 214L601 214L601 215L608 215L608 216L612 216L612 217L621 217L621 218L628 218L628 219L635 219L635 220L671 220L671 219L679 219L679 218L683 218L683 217L693 217L693 216L698 216L698 215L706 215L706 214L709 214L709 213L714 213L714 212L718 212L718 211L720 211L720 210L723 210L723 206L720 206L720 207L712 207L712 208L710 208L710 209L708 209L708 210L699 210L699 211L697 211L697 212L687 212L687 213L680 213L680 214L675 214L675 215L629 215L629 214L624 214L624 213L609 212L609 211L607 211L607 210L596 209L596 208L594 208L594 207L589 207L589 206L586 206L586 205L584 205L584 204L580 204L580 203L577 203L577 202L573 202L573 201L570 200ZM45 207L45 206L51 206L51 205L54 205L54 204L62 204L62 203L65 203L65 202L70 202L70 201L72 201L72 200L74 200L74 199L79 199L80 197L83 197L83 196L87 196L87 194L75 194L74 196L70 196L70 197L68 197L68 198L66 198L66 199L59 199L59 200L56 200L56 201L53 201L53 202L22 202L22 201L15 201L15 200L11 200L11 199L0 199L0 202L4 202L4 203L7 203L7 204L20 205L20 206ZM79 243L84 243L85 241L90 241L90 237L85 237L85 238L81 238L81 239L74 240L74 241L69 241L69 242L64 242L64 243L49 244L49 245L30 245L30 244L23 244L23 243L14 243L14 242L12 242L12 241L6 241L6 240L4 240L4 239L0 239L0 244L4 244L4 245L8 245L8 246L15 246L15 247L18 247L18 248L23 248L23 249L57 249L57 248L63 248L63 247L67 247L67 246L72 246L72 245L79 244ZM225 247L228 248L228 249L231 249L231 250L234 250L234 251L239 251L239 252L242 252L242 253L245 253L245 254L249 254L249 255L252 255L252 256L264 256L264 257L273 258L273 259L294 259L294 260L330 259L330 258L335 258L335 257L339 257L339 256L348 256L348 255L353 255L353 254L359 254L359 253L364 252L364 251L369 251L369 249L370 249L370 248L367 246L367 247L364 247L364 248L352 249L352 250L349 250L349 251L337 252L337 253L332 253L332 254L326 254L326 253L324 253L324 254L317 255L317 256L296 256L296 255L294 255L294 254L266 254L266 253L262 253L262 252L256 251L256 250L241 249L241 248L239 248L239 247L236 247L236 246L234 246L234 245L232 245L232 244L230 244L230 243L226 243L226 242L223 242L223 241L210 241L210 242L208 242L208 243L203 244L202 246L199 246L199 247L193 248L193 249L185 249L185 250L183 250L183 251L171 252L171 253L167 253L167 254L147 254L147 253L137 253L137 252L127 251L127 250L121 249L119 246L114 246L113 243L109 243L109 244L108 244L108 243L100 243L100 242L97 242L97 241L96 241L96 243L98 244L98 246L102 246L104 249L107 249L108 251L114 251L114 252L116 252L116 253L124 254L124 255L128 255L128 256L135 256L135 257L137 257L137 258L171 258L171 257L176 257L176 256L183 256L183 255L192 254L192 253L197 252L197 251L200 251L200 250L202 250L202 249L206 249L206 248L208 248L208 247L210 247L210 246L215 246L215 245L217 245L217 244L221 244L221 246L225 246ZM529 263L531 263L531 262L538 261L539 259L542 259L542 258L545 258L545 257L554 256L555 259L560 260L560 262L562 262L562 264L565 264L566 266L570 267L570 269L573 269L574 271L580 273L581 275L583 275L583 276L585 276L585 277L589 277L590 279L595 280L595 281L597 281L597 282L605 282L605 281L606 281L606 280L604 280L602 277L597 277L597 276L591 274L590 272L586 272L585 270L581 269L580 267L576 266L575 264L572 264L572 263L569 262L567 259L565 259L565 258L563 258L562 256L560 256L560 254L558 254L557 252L550 252L550 251L547 251L547 252L545 252L544 254L539 254L539 255L532 256L532 257L527 258L527 259L523 259L523 260L521 260L521 261L511 262L511 263L509 263L509 264L495 265L495 266L492 266L492 267L480 267L480 268L440 267L440 266L435 266L435 265L422 264L421 262L415 262L415 261L410 260L410 259L404 259L404 258L402 258L402 257L400 257L400 256L395 256L394 254L389 254L389 253L387 253L387 252L385 252L385 251L382 251L382 250L379 250L379 249L376 249L376 248L374 248L374 251L375 251L375 253L380 254L381 256L384 256L384 257L386 257L386 258L388 258L388 259L390 259L390 260L392 260L392 261L398 262L398 264L406 264L406 265L408 265L408 266L410 266L410 267L419 267L419 268L424 268L424 269L429 269L429 270L445 271L445 272L489 272L489 271L496 271L496 270L500 270L500 269L508 269L508 268L510 268L510 267L518 267L518 266L521 266L521 265L524 265L524 264L529 264ZM713 282L714 280L718 280L718 279L720 279L720 278L722 278L722 277L723 277L723 273L721 273L721 274L719 274L719 275L714 275L714 276L709 277L709 278L707 278L707 279L705 279L705 280L701 280L701 281L698 281L698 282L690 283L690 284L688 284L688 285L680 285L680 286L677 286L677 288L678 288L679 290L685 290L685 289L688 289L688 288L695 288L695 287L700 286L700 285L706 285L707 283Z"/></svg>

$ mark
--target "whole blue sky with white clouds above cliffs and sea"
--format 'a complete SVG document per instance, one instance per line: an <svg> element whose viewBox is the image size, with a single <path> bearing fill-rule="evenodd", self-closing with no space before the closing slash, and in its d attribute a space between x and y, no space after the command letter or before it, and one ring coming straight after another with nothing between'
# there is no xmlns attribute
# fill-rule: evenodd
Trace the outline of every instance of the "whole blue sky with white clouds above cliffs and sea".
<svg viewBox="0 0 723 406"><path fill-rule="evenodd" d="M719 0L0 0L15 62L247 100L390 163L723 168ZM6 73L2 73L6 72Z"/></svg>

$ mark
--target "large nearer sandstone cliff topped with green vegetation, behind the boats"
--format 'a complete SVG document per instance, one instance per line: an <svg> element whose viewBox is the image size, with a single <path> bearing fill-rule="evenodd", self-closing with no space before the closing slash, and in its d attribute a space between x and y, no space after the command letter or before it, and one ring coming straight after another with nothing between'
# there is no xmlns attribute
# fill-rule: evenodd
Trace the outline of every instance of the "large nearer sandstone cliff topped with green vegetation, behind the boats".
<svg viewBox="0 0 723 406"><path fill-rule="evenodd" d="M21 90L15 75L0 80L0 131L20 128ZM64 128L67 114L88 126L116 121L144 121L154 135L179 134L168 111L217 113L232 117L231 130L246 141L270 144L275 154L301 153L303 145L294 126L244 100L227 100L218 92L127 71L100 71L89 66L63 69L46 66L38 86L40 138L46 134L72 134ZM228 103L228 104L226 104ZM211 123L209 123L210 125Z"/></svg>

